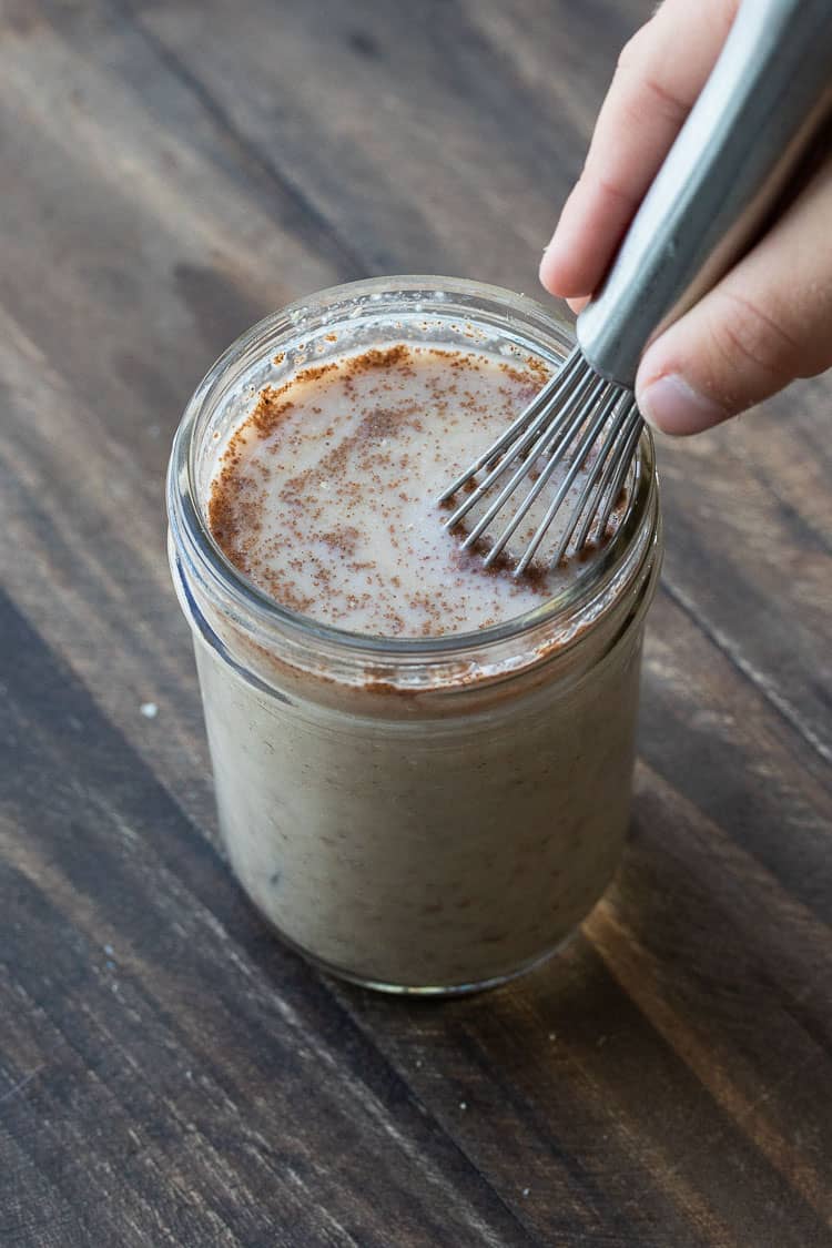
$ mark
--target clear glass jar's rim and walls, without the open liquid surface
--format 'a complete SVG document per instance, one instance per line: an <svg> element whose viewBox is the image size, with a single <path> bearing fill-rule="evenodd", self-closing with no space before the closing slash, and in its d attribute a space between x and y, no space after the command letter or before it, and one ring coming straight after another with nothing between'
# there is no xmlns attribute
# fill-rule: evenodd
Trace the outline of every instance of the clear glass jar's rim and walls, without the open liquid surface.
<svg viewBox="0 0 832 1248"><path fill-rule="evenodd" d="M661 562L657 484L645 431L615 537L558 597L478 633L374 638L278 607L208 532L218 447L263 384L390 341L556 363L574 337L523 296L435 277L356 282L274 313L187 407L170 559L222 836L251 900L327 971L462 992L550 955L616 869Z"/></svg>

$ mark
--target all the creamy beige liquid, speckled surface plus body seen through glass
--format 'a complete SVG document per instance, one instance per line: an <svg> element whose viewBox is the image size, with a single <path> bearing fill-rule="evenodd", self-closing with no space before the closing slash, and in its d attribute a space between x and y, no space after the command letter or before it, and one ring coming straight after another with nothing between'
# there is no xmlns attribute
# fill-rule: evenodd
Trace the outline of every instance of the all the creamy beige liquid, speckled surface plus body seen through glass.
<svg viewBox="0 0 832 1248"><path fill-rule="evenodd" d="M279 603L342 628L419 636L516 617L574 564L486 573L434 499L545 379L534 362L399 344L266 388L221 451L213 535ZM220 822L263 915L329 968L429 991L554 948L624 844L641 629L622 619L484 701L462 688L425 705L374 684L321 699L279 668L272 693L200 631ZM216 626L233 650L228 620Z"/></svg>

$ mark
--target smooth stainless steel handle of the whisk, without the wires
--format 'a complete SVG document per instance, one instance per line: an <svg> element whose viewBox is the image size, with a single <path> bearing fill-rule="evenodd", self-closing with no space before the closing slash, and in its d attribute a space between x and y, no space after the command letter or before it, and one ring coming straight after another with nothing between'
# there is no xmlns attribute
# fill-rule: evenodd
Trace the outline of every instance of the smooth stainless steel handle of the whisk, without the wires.
<svg viewBox="0 0 832 1248"><path fill-rule="evenodd" d="M651 334L736 263L832 104L832 0L743 0L718 61L578 318L590 364L632 389Z"/></svg>

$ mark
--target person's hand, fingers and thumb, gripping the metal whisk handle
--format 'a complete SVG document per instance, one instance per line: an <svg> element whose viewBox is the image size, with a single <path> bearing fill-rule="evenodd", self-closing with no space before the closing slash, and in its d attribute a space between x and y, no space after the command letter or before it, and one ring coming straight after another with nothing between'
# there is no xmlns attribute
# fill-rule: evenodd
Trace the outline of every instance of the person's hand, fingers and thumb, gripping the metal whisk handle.
<svg viewBox="0 0 832 1248"><path fill-rule="evenodd" d="M580 181L540 263L579 311L707 79L740 0L665 0L625 46ZM832 160L757 245L644 352L636 398L665 433L699 433L832 364Z"/></svg>

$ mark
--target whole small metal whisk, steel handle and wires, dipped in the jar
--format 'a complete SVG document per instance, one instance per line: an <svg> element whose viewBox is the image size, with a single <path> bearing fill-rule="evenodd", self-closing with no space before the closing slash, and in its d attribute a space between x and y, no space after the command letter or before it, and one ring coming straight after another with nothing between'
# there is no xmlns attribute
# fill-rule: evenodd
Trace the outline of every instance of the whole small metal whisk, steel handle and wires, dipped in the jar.
<svg viewBox="0 0 832 1248"><path fill-rule="evenodd" d="M463 542L473 547L488 540L486 530L521 482L531 482L490 543L486 565L503 554L559 468L563 477L515 560L515 575L529 567L581 473L548 562L556 564L570 543L579 552L590 535L604 539L641 434L632 394L641 352L755 241L830 112L831 64L830 0L743 0L601 290L578 318L578 346L438 499L447 503L475 484L445 522L453 529L480 502L488 504Z"/></svg>

